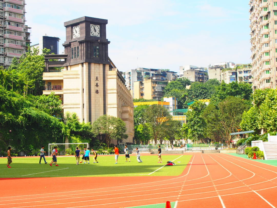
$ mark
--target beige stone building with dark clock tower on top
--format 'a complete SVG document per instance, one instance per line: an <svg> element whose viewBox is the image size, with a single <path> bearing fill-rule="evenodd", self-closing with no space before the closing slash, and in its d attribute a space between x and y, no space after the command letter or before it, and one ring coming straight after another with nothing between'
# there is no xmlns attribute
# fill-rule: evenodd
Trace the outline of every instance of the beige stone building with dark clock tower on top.
<svg viewBox="0 0 277 208"><path fill-rule="evenodd" d="M81 17L65 22L65 55L45 55L45 90L55 92L63 112L75 112L80 122L93 123L104 114L121 118L128 138L134 142L133 97L125 79L108 57L107 20ZM64 59L64 61L49 61ZM64 67L55 72L49 67Z"/></svg>

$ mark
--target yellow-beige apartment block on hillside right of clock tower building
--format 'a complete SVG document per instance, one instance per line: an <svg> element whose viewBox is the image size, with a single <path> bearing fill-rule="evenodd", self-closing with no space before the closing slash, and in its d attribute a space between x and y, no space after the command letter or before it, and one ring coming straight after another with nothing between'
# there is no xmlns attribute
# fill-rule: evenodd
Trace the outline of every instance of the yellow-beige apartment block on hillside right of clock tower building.
<svg viewBox="0 0 277 208"><path fill-rule="evenodd" d="M134 82L134 98L161 100L165 95L163 90L167 83L168 80L156 79L155 77Z"/></svg>

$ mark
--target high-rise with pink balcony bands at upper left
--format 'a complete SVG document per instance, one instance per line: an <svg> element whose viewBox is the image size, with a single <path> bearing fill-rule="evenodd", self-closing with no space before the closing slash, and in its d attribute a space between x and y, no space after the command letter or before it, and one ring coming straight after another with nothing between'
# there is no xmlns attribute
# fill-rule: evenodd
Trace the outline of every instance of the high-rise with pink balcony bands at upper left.
<svg viewBox="0 0 277 208"><path fill-rule="evenodd" d="M26 51L26 42L30 44L30 27L25 26L25 0L4 0L0 1L0 17L3 17L0 24L0 45L3 44L4 48L0 47L0 53L4 53L3 58L0 57L0 63L4 64L7 68L11 64L13 57L19 59ZM26 35L27 33L27 35ZM26 40L27 39L27 40Z"/></svg>

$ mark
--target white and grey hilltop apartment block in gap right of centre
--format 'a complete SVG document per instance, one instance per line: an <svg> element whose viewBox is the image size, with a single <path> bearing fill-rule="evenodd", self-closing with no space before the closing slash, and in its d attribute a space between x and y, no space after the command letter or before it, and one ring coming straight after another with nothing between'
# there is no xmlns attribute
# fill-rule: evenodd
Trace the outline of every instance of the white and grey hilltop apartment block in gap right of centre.
<svg viewBox="0 0 277 208"><path fill-rule="evenodd" d="M180 77L188 78L191 82L207 82L209 80L208 70L204 67L180 66L179 75Z"/></svg>

